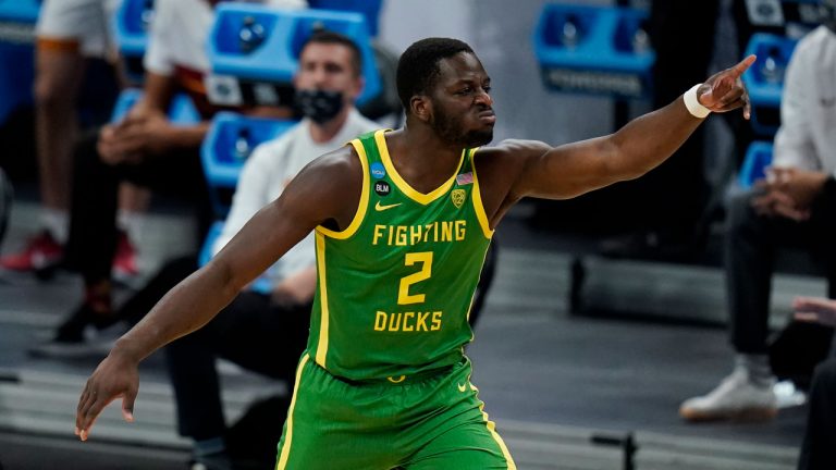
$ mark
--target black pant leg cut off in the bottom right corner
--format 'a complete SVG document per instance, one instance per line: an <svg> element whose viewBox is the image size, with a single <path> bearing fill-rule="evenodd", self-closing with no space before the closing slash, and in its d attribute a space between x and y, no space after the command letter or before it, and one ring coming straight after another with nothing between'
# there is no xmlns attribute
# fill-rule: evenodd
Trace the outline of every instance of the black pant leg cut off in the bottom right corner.
<svg viewBox="0 0 836 470"><path fill-rule="evenodd" d="M819 364L809 395L798 470L836 469L836 359Z"/></svg>

